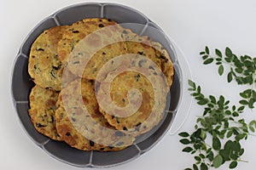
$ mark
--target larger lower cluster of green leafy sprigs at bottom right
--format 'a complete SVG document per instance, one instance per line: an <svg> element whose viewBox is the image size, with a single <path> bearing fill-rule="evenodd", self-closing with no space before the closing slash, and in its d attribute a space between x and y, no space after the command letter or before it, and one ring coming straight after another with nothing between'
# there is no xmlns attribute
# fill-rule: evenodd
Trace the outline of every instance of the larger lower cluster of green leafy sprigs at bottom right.
<svg viewBox="0 0 256 170"><path fill-rule="evenodd" d="M201 86L190 80L189 91L197 104L205 108L203 116L197 118L195 132L179 133L183 138L180 142L186 145L183 152L195 158L193 169L207 170L209 167L220 167L225 162L230 163L230 168L235 168L244 153L240 141L247 139L249 131L255 131L256 121L247 124L239 118L245 109L244 105L230 105L230 100L222 95L218 98L213 95L206 97L201 93ZM207 144L207 139L212 143Z"/></svg>

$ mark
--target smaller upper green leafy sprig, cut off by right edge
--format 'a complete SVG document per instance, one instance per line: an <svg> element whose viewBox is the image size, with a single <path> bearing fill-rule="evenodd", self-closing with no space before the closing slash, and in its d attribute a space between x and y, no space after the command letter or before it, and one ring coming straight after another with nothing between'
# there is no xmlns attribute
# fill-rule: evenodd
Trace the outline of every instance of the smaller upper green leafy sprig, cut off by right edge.
<svg viewBox="0 0 256 170"><path fill-rule="evenodd" d="M208 47L201 53L201 57L204 60L204 65L209 65L215 60L215 64L218 65L218 74L222 76L224 74L224 65L229 70L227 74L227 81L231 82L236 80L240 85L250 85L251 88L240 93L241 105L247 105L249 108L254 108L256 102L256 58L252 58L248 55L241 55L237 57L233 54L230 48L225 48L224 54L215 49L215 55L213 56Z"/></svg>

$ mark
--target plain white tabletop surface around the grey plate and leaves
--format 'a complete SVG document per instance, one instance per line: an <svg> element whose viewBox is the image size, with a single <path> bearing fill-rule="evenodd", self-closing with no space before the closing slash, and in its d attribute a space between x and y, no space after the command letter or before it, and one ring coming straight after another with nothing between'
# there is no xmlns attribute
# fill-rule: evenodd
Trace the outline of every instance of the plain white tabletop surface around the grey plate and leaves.
<svg viewBox="0 0 256 170"><path fill-rule="evenodd" d="M84 1L86 2L86 1ZM96 1L98 2L98 1ZM108 2L108 1L101 1ZM199 52L208 45L224 49L230 46L236 54L256 56L256 1L254 0L119 0L137 8L154 20L169 37L177 42L189 62L195 82L201 84L205 94L224 94L233 103L237 102L242 89L236 83L227 84L224 77L218 77L216 66L204 66ZM79 169L56 161L44 153L20 127L10 97L10 75L15 55L29 31L36 24L56 10L81 1L67 0L1 0L0 48L1 48L1 119L0 119L0 169ZM181 130L192 131L196 115L202 108L192 105L189 117ZM256 119L254 111L245 115ZM167 134L154 149L135 161L109 169L173 169L181 170L194 160L181 152L183 145L177 135ZM256 138L250 136L243 142L248 163L239 163L237 169L255 169ZM219 169L227 169L222 167Z"/></svg>

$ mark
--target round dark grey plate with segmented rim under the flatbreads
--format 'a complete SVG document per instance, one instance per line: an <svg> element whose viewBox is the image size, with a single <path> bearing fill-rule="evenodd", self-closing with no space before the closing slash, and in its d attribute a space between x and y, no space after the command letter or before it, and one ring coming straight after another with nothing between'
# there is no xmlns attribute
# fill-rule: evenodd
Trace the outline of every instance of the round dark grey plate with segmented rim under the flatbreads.
<svg viewBox="0 0 256 170"><path fill-rule="evenodd" d="M27 63L30 47L32 42L44 30L60 25L70 25L75 21L84 18L108 18L119 23L136 23L141 24L141 28L131 28L139 34L148 35L154 41L158 41L164 45L169 52L175 68L175 76L171 88L170 105L166 106L166 118L159 127L154 128L154 133L147 139L131 145L125 150L116 152L98 152L98 151L82 151L76 150L65 144L48 139L44 135L38 133L32 126L27 110L29 108L28 97L34 83L30 80L27 72ZM158 29L157 33L148 30L149 26ZM76 167L112 167L127 161L131 161L138 156L143 155L150 150L164 136L172 125L172 120L177 112L177 106L181 99L182 93L182 73L177 61L172 43L161 31L159 26L137 10L125 7L120 4L113 3L83 3L63 8L42 20L26 37L20 47L19 54L15 59L14 70L12 74L12 93L15 109L20 118L20 122L31 139L38 144L40 148L45 150L50 156L66 162Z"/></svg>

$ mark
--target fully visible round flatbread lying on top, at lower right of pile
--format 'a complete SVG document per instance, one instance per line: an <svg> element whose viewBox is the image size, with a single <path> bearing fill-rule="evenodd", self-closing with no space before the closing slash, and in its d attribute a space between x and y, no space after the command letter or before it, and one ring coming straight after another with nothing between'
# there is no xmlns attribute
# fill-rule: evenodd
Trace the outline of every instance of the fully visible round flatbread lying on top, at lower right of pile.
<svg viewBox="0 0 256 170"><path fill-rule="evenodd" d="M154 75L154 73L155 72L153 71L150 77L160 77L160 75ZM109 75L111 75L111 73ZM156 80L158 79L156 78ZM145 77L142 73L137 71L124 71L118 76L114 77L113 81L109 82L110 96L113 100L113 105L117 105L120 108L125 108L125 106L129 104L136 105L138 103L137 101L131 101L131 103L129 103L128 100L128 92L132 88L139 91L142 96L142 102L137 111L129 113L127 116L125 115L127 112L125 110L117 110L115 107L109 108L112 105L108 105L107 109L109 112L104 111L104 109L102 109L101 101L99 101L100 111L108 120L109 124L124 133L129 133L134 136L147 133L154 126L156 126L164 117L164 109L166 107L166 92L163 94L155 93L156 90L153 85L154 82L150 82L148 77ZM108 84L108 81L102 82L100 89L105 87L106 84ZM157 86L157 88L162 87L164 90L165 86L167 86L167 84L160 84L160 86ZM108 88L101 90L102 91L98 92L97 97L98 99L102 99L102 102L106 102L108 99L103 99L103 96L108 94ZM131 98L134 98L134 96L137 94L131 92L130 95ZM115 115L117 113L119 115Z"/></svg>

